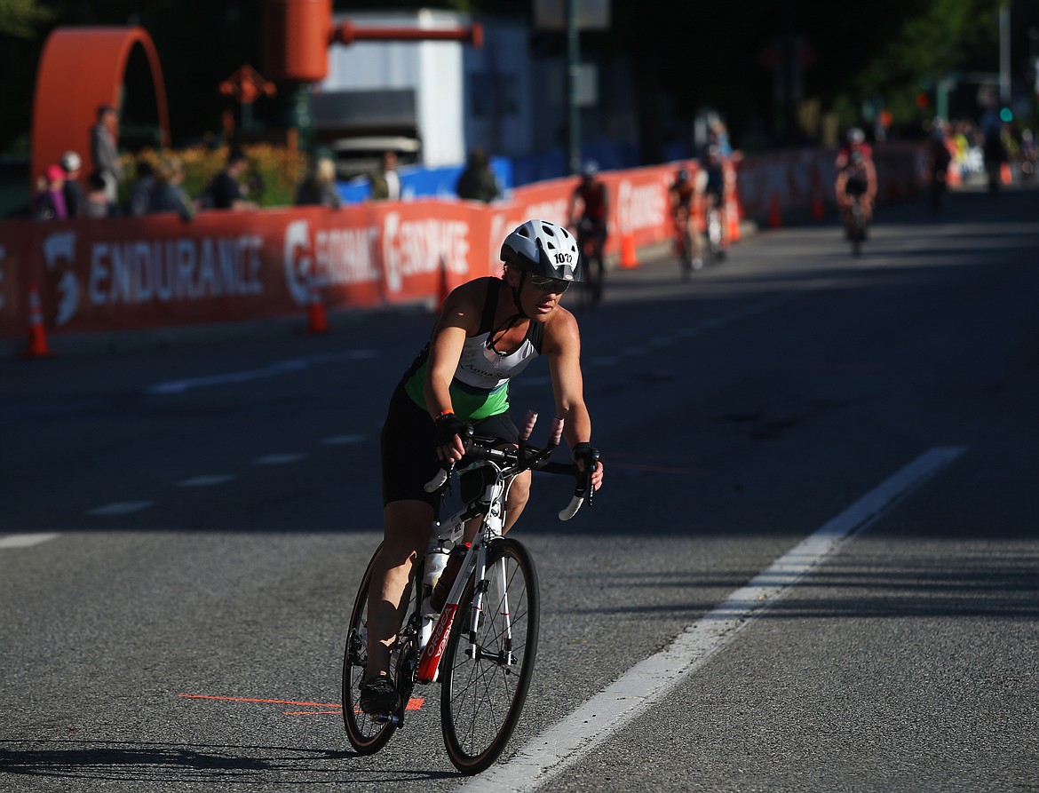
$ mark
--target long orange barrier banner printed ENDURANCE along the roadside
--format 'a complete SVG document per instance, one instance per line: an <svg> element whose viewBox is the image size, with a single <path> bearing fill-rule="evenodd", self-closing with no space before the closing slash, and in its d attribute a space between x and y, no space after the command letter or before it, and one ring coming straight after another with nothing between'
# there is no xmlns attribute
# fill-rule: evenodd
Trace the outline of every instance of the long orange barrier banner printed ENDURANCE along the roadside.
<svg viewBox="0 0 1039 793"><path fill-rule="evenodd" d="M894 149L894 148L893 148ZM888 151L878 170L912 194L913 157ZM668 188L695 161L605 171L608 256L671 238ZM832 176L831 153L748 157L740 202L750 216L773 195L805 208ZM506 235L530 218L568 220L576 177L517 187L507 202L454 200L210 211L103 220L0 221L0 337L28 333L36 285L48 334L305 317L317 290L327 309L438 300L479 275L499 274ZM807 210L806 210L807 211Z"/></svg>

